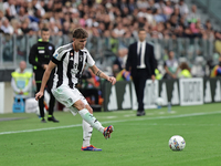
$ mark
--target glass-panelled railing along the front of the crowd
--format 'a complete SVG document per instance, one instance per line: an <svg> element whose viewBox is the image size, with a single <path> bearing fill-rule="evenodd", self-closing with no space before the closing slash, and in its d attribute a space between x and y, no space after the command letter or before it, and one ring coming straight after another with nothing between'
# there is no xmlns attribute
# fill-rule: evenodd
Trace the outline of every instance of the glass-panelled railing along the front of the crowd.
<svg viewBox="0 0 221 166"><path fill-rule="evenodd" d="M54 35L50 38L55 48L67 44L72 38L67 35ZM104 56L115 56L118 49L128 48L135 42L135 38L113 39L90 37L86 48L92 56L101 59ZM213 54L213 41L203 39L147 39L149 43L155 45L155 55L158 62L166 59L167 51L175 51L176 58L185 58L190 63L194 62L197 56L204 59L211 58ZM15 69L21 60L29 62L29 52L31 46L38 42L36 35L3 35L0 34L0 69ZM28 68L31 65L28 63Z"/></svg>

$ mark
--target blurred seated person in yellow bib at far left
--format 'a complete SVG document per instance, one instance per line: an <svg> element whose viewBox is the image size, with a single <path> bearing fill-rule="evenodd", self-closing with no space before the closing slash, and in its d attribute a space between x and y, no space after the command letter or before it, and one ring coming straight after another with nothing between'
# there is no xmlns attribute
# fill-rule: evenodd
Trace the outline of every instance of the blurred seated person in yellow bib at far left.
<svg viewBox="0 0 221 166"><path fill-rule="evenodd" d="M19 69L11 73L11 86L14 92L14 96L21 95L21 97L30 97L32 73L27 71L27 63L21 61Z"/></svg>

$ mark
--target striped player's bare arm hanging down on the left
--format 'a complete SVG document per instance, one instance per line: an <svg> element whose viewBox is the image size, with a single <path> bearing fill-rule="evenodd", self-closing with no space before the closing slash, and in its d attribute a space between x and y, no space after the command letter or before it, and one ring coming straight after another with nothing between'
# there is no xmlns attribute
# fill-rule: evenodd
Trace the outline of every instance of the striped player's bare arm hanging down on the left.
<svg viewBox="0 0 221 166"><path fill-rule="evenodd" d="M43 95L44 95L44 87L46 85L46 82L50 77L50 74L52 72L52 70L56 66L55 63L53 63L52 61L50 61L45 72L44 72L44 75L43 75L43 79L42 79L42 83L41 83L41 89L40 91L35 94L35 100L38 101L39 98L41 98Z"/></svg>

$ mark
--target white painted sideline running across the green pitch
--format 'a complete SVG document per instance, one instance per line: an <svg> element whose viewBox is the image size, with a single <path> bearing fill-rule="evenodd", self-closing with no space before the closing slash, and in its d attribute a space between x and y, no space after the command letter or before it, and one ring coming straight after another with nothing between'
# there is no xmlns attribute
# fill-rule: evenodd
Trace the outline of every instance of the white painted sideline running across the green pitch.
<svg viewBox="0 0 221 166"><path fill-rule="evenodd" d="M220 114L221 111L210 112L210 113L192 113L192 114L181 114L181 115L172 115L172 116L157 116L157 117L137 117L135 120L118 120L118 121L106 121L101 122L102 124L106 123L118 123L118 122L128 122L128 121L145 121L145 120L166 120L166 118L179 118L179 117L190 117L190 116L201 116L201 115L210 115L210 114ZM30 133L30 132L40 132L40 131L52 131L60 128L71 128L71 127L80 127L82 124L69 125L69 126L60 126L60 127L49 127L49 128L38 128L38 129L27 129L27 131L11 131L11 132L2 132L0 135L4 134L17 134L17 133Z"/></svg>

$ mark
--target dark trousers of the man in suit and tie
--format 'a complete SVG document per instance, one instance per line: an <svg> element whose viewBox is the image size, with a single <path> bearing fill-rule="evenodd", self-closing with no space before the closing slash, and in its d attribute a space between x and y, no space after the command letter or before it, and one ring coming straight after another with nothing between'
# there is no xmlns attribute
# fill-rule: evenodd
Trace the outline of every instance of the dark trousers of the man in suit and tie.
<svg viewBox="0 0 221 166"><path fill-rule="evenodd" d="M136 75L133 75L133 82L135 84L135 91L137 95L138 102L138 112L143 112L144 108L144 93L145 93L145 85L147 81L147 71L144 69L137 70Z"/></svg>

